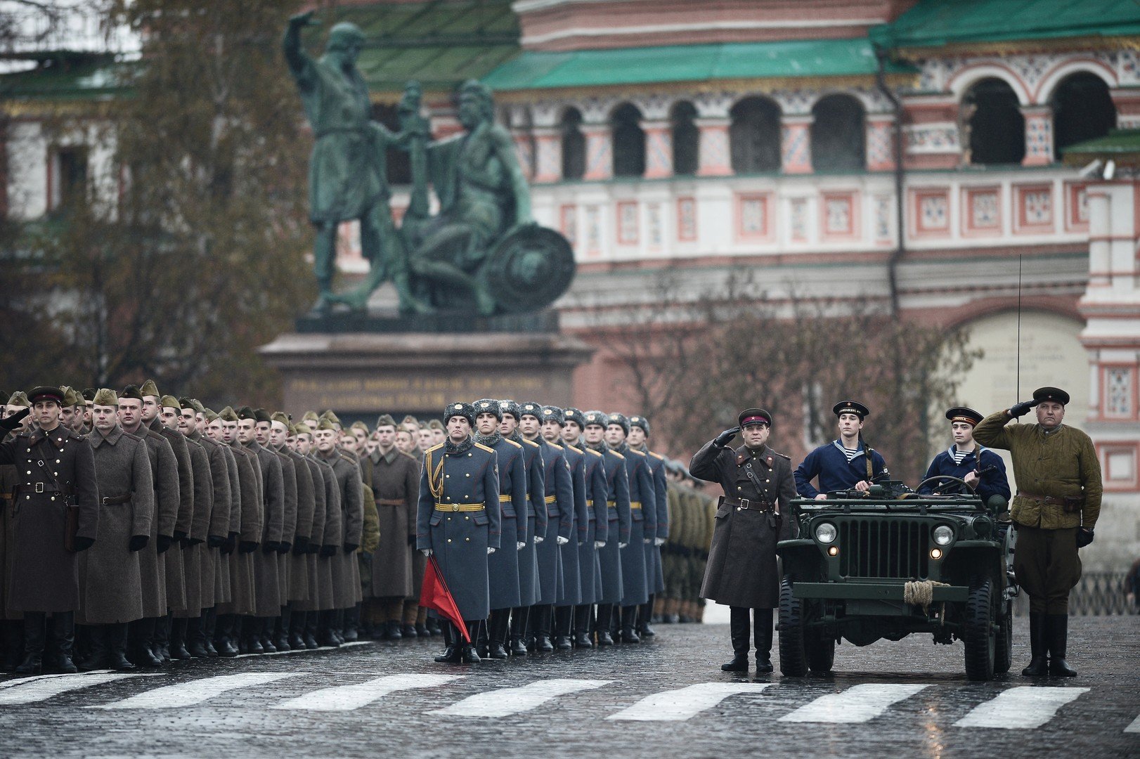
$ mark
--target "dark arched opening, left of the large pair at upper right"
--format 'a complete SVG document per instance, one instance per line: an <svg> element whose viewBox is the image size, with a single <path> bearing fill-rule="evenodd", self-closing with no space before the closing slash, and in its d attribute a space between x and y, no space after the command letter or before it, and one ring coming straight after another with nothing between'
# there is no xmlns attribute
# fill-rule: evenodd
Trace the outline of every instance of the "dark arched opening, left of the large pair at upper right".
<svg viewBox="0 0 1140 759"><path fill-rule="evenodd" d="M1000 79L983 79L962 99L962 120L975 165L1021 163L1025 117L1013 88Z"/></svg>

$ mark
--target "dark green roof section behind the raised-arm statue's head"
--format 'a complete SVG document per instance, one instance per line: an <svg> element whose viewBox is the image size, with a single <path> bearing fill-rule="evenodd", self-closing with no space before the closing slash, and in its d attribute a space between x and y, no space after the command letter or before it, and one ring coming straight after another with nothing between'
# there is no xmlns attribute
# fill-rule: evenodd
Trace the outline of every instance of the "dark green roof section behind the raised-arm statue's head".
<svg viewBox="0 0 1140 759"><path fill-rule="evenodd" d="M342 6L319 15L309 32L319 54L328 28L351 22L367 38L357 66L373 92L398 92L408 80L451 91L519 52L519 18L511 0L431 0Z"/></svg>

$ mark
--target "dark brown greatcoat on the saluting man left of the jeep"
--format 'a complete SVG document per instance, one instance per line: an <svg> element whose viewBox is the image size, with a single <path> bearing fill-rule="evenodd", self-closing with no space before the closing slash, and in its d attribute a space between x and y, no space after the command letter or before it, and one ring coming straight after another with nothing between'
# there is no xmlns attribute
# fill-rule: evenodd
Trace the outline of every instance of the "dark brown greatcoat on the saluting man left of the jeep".
<svg viewBox="0 0 1140 759"><path fill-rule="evenodd" d="M763 491L748 478L748 464ZM689 468L694 476L720 483L726 498L775 503L784 512L783 519L776 520L769 512L738 508L722 498L701 585L701 597L718 604L775 609L780 604L776 541L789 534L792 514L788 503L797 497L791 462L767 446L755 451L747 446L733 450L708 442L693 456Z"/></svg>

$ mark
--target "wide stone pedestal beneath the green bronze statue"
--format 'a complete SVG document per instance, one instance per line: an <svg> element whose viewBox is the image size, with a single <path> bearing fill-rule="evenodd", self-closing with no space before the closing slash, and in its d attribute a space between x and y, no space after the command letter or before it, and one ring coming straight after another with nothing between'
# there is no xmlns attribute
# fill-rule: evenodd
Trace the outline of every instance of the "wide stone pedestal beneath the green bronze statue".
<svg viewBox="0 0 1140 759"><path fill-rule="evenodd" d="M556 329L548 313L490 319L345 313L303 318L296 333L260 352L280 373L284 408L294 417L331 408L345 424L363 419L370 426L378 414L439 417L456 400L570 405L573 370L594 349Z"/></svg>

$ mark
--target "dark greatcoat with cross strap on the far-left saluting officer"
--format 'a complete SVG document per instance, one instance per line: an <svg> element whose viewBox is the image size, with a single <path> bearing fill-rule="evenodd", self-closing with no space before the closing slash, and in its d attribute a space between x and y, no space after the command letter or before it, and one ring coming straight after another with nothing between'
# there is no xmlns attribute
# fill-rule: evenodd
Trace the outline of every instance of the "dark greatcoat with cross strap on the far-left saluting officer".
<svg viewBox="0 0 1140 759"><path fill-rule="evenodd" d="M44 441L44 442L40 442ZM46 452L41 452L46 451ZM43 456L48 458L43 458ZM79 532L96 537L99 492L91 447L63 425L36 430L0 443L0 464L15 464L16 506L13 519L11 574L8 602L21 612L68 612L79 609L79 557L64 548L67 514L64 497L43 468L42 460L65 493L79 506ZM58 474L55 474L58 473ZM35 492L36 483L43 492Z"/></svg>

